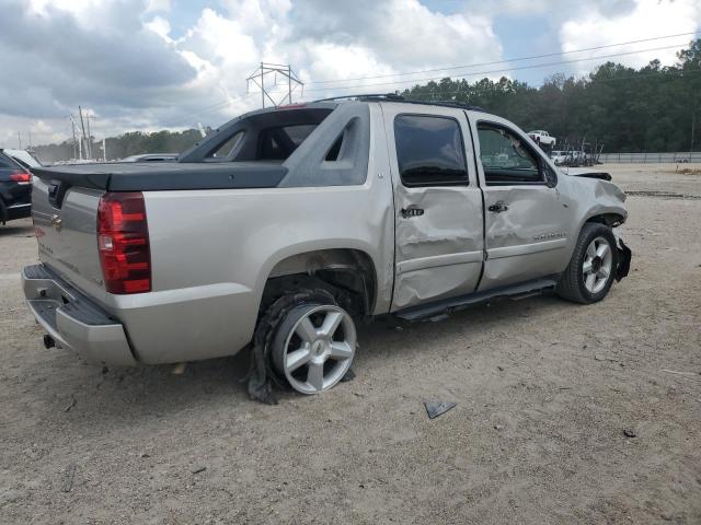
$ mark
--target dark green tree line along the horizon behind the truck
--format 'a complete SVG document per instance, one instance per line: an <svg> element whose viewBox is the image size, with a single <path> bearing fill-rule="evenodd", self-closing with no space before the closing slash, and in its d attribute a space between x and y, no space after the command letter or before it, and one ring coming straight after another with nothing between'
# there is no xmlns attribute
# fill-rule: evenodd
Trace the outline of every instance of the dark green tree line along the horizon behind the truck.
<svg viewBox="0 0 701 525"><path fill-rule="evenodd" d="M445 78L397 92L418 101L450 101L503 116L526 131L544 129L559 144L604 144L605 152L673 152L701 150L701 38L681 50L674 66L659 60L634 69L606 62L586 77L562 73L536 88L499 80ZM107 159L138 153L180 153L200 135L185 131L134 131L106 139ZM74 144L41 145L44 161L74 158ZM94 156L102 158L97 144Z"/></svg>

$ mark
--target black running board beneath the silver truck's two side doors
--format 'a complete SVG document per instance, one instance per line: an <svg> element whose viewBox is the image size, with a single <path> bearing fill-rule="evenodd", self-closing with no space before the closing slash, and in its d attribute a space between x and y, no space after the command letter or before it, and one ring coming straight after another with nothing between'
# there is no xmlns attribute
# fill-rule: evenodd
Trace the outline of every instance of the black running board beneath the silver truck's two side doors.
<svg viewBox="0 0 701 525"><path fill-rule="evenodd" d="M540 294L544 290L552 289L556 284L558 279L555 276L544 277L542 279L520 282L518 284L510 284L508 287L494 288L483 292L473 292L466 295L459 295L457 298L441 299L428 304L411 306L409 308L394 312L393 315L405 320L418 320L436 314L461 310L472 304L492 301L494 299L508 298L519 300L530 298L532 295Z"/></svg>

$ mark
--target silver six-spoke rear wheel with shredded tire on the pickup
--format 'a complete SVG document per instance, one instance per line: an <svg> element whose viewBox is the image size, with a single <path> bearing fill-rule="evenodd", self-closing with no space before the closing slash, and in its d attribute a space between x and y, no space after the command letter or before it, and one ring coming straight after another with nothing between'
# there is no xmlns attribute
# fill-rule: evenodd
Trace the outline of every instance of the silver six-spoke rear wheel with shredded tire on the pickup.
<svg viewBox="0 0 701 525"><path fill-rule="evenodd" d="M355 357L355 323L331 301L297 304L275 330L273 369L301 394L333 388L348 372Z"/></svg>

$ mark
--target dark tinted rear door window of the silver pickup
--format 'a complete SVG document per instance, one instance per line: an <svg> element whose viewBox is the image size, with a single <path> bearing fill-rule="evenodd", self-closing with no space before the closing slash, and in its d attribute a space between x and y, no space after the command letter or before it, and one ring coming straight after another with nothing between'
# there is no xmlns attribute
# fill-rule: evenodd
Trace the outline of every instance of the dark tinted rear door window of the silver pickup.
<svg viewBox="0 0 701 525"><path fill-rule="evenodd" d="M394 141L404 186L468 184L462 133L453 118L399 115Z"/></svg>

